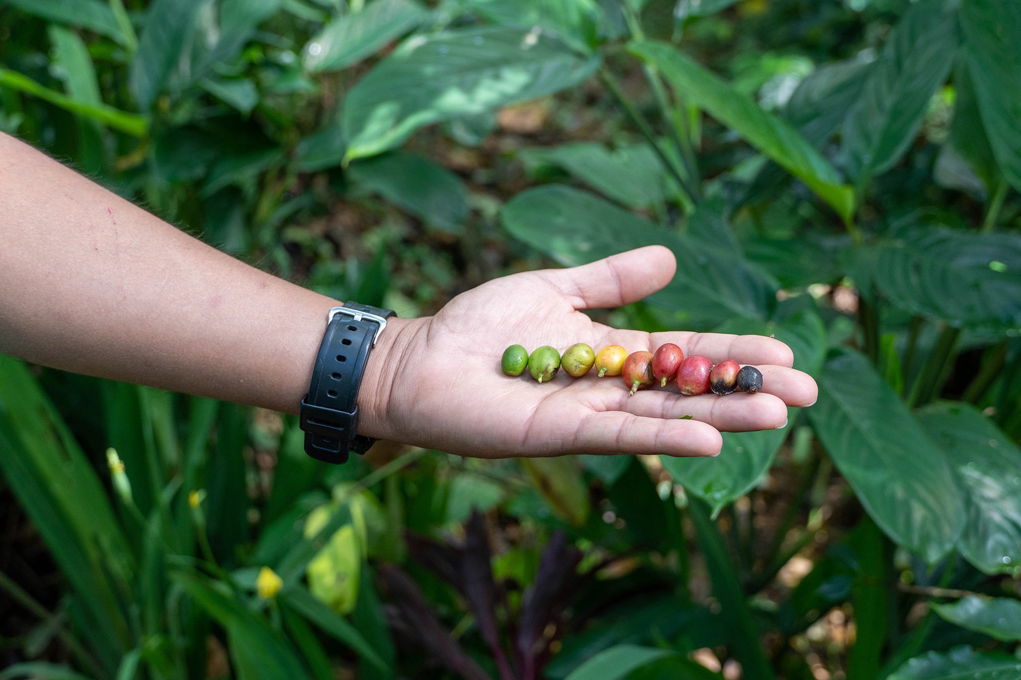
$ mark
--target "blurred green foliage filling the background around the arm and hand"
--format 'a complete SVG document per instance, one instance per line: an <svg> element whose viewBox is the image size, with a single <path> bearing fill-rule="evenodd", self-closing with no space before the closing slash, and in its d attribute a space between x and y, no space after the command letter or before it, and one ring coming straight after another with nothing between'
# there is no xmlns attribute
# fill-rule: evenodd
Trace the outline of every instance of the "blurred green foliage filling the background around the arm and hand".
<svg viewBox="0 0 1021 680"><path fill-rule="evenodd" d="M661 243L610 321L820 383L714 459L328 469L0 357L0 678L1021 677L1019 115L1012 0L0 0L0 130L227 252L415 315Z"/></svg>

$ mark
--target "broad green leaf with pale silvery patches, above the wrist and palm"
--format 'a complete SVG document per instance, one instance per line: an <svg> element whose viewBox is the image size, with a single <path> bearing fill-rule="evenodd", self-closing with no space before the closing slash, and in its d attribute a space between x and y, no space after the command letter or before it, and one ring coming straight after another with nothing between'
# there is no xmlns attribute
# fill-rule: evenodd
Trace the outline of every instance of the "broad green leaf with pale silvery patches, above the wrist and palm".
<svg viewBox="0 0 1021 680"><path fill-rule="evenodd" d="M537 29L483 27L411 38L344 99L346 157L382 153L423 126L577 85L599 61Z"/></svg>

